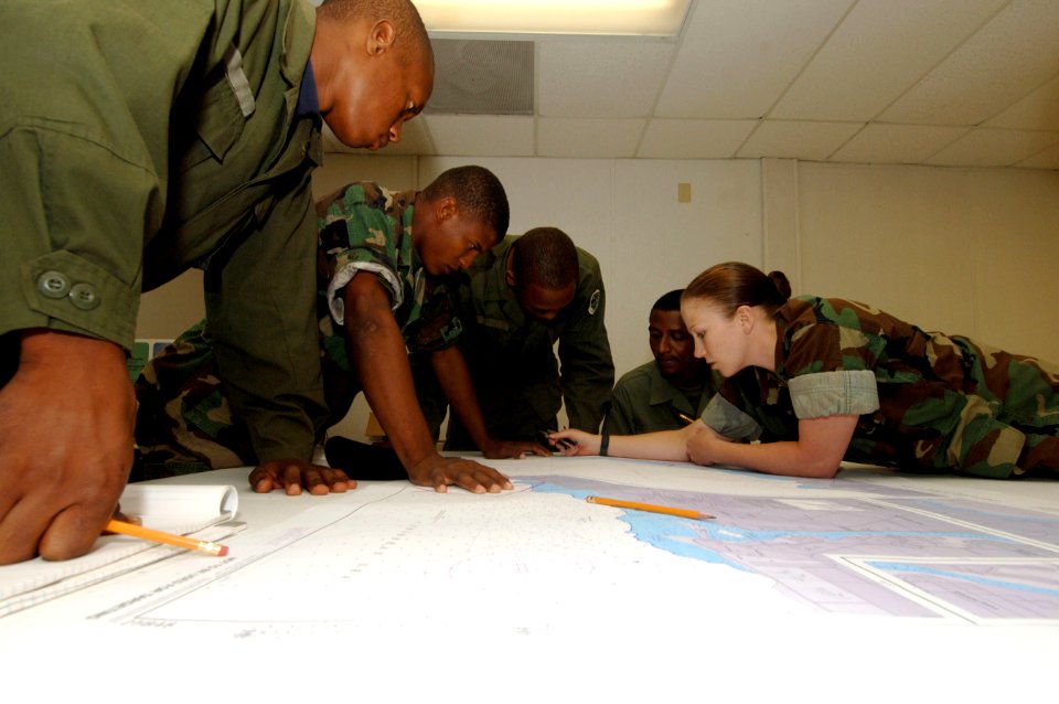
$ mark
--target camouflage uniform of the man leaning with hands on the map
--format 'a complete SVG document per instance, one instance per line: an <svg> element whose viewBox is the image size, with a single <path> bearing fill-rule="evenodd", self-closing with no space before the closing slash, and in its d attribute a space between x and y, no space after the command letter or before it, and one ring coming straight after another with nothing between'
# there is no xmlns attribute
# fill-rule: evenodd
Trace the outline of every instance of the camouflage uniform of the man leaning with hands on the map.
<svg viewBox="0 0 1059 704"><path fill-rule="evenodd" d="M461 332L445 287L429 277L411 244L415 192L353 183L317 206L319 358L329 416L315 439L341 420L361 391L341 327L342 289L360 274L386 288L409 351L451 344ZM136 439L145 477L253 465L247 429L232 413L216 374L212 331L200 323L151 360L137 380ZM143 477L138 477L143 478Z"/></svg>

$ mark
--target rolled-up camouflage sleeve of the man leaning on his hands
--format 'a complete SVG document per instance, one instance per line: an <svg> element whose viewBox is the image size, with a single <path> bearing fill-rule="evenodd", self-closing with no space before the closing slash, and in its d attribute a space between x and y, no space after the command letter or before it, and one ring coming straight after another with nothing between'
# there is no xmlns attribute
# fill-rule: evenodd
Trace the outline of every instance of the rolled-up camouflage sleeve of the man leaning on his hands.
<svg viewBox="0 0 1059 704"><path fill-rule="evenodd" d="M374 183L354 183L318 209L318 267L328 281L328 307L340 324L345 319L341 291L361 271L378 278L394 310L404 302L397 269L402 225L391 213L393 198Z"/></svg>

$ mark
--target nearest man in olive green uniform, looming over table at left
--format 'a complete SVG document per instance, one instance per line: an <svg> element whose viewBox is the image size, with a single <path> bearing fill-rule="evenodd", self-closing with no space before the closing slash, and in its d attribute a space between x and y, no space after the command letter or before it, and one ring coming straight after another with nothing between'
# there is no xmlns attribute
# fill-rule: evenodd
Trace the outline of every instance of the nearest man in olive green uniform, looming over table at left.
<svg viewBox="0 0 1059 704"><path fill-rule="evenodd" d="M321 117L399 139L432 88L415 8L4 0L0 62L0 564L92 546L132 459L139 294L191 266L258 456L308 467Z"/></svg>

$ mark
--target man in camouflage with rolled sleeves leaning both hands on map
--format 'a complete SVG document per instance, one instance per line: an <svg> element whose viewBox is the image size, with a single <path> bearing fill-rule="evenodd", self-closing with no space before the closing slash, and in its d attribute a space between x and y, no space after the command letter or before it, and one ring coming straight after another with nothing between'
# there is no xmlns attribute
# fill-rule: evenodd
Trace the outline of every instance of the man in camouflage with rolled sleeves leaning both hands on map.
<svg viewBox="0 0 1059 704"><path fill-rule="evenodd" d="M399 355L404 375L408 376L403 346L411 353L439 354L450 360L452 354L459 356L452 343L461 333L460 321L452 314L443 277L437 275L469 266L475 256L496 244L496 233L506 230L507 201L503 186L488 170L461 167L441 174L420 193L395 193L374 183L353 183L318 203L317 211L318 337L330 410L312 438L320 440L328 427L345 416L362 388L373 401L373 383L399 387L400 364L389 370L387 364ZM373 328L361 313L362 300L351 296L351 291L365 286L385 291L385 316L396 323L395 330L399 328L397 355L385 344L367 349L366 354L357 353L363 344L357 340L365 337L365 331L372 334ZM372 337L368 342L374 345L376 339ZM462 359L457 359L456 364L454 376L459 380ZM466 369L462 374L469 388ZM211 332L204 323L182 334L162 355L151 360L136 387L140 403L136 479L256 462L250 433L232 413L227 388L216 375ZM470 398L473 401L473 394ZM405 407L392 413L391 408L402 403ZM421 417L419 426L414 425L418 409L410 378L404 398L398 393L396 402L382 398L378 406L375 410L410 476L414 467L424 461L425 467L430 461L457 462L437 457ZM482 426L477 405L462 410L472 424L477 414L478 426ZM411 430L403 434L396 427L400 422L394 416L408 416ZM482 435L478 439L483 444L489 440ZM496 444L491 449L494 455L512 456L527 448ZM481 468L474 462L459 461ZM493 470L486 471L483 479L467 488L490 483L492 474ZM437 476L416 472L413 478L438 486Z"/></svg>

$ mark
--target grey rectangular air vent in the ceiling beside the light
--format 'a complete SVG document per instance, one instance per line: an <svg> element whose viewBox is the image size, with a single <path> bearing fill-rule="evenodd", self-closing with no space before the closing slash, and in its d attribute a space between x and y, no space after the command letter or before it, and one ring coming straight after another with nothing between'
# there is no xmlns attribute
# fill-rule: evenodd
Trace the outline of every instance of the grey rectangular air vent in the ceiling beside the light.
<svg viewBox="0 0 1059 704"><path fill-rule="evenodd" d="M533 42L435 39L425 113L533 115Z"/></svg>

